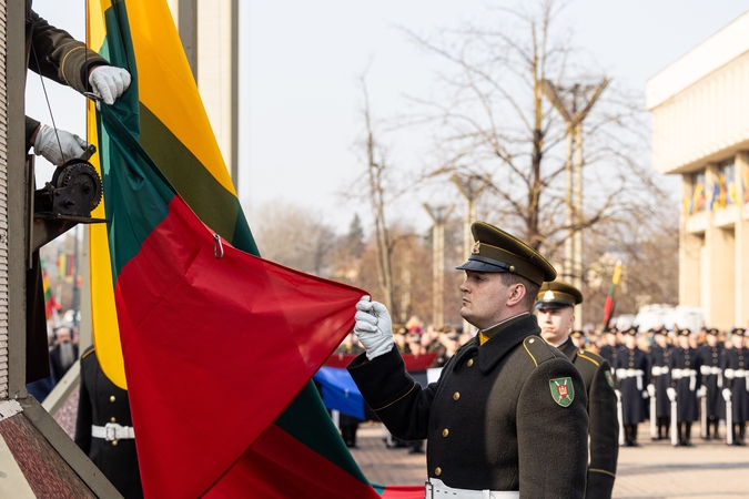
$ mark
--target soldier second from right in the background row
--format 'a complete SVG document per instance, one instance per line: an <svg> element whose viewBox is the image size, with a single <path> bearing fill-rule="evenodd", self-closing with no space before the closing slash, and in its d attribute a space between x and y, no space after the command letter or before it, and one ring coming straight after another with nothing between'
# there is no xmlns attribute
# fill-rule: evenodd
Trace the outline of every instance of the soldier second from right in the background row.
<svg viewBox="0 0 749 499"><path fill-rule="evenodd" d="M721 395L723 388L723 371L720 367L723 357L723 347L718 342L718 329L708 329L707 344L699 348L699 355L702 360L700 373L702 374L702 386L700 395L705 397L701 415L705 425L705 439L710 439L710 427L712 427L712 437L718 439L718 427L720 420L726 417L726 401Z"/></svg>

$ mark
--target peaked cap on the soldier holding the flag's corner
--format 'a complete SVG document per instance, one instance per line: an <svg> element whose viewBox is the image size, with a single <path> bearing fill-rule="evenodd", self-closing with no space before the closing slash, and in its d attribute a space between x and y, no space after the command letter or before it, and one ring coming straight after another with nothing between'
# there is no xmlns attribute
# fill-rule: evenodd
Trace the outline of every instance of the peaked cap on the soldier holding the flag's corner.
<svg viewBox="0 0 749 499"><path fill-rule="evenodd" d="M509 272L541 285L554 281L557 271L534 248L505 231L485 222L470 226L474 248L468 259L458 265L458 271Z"/></svg>

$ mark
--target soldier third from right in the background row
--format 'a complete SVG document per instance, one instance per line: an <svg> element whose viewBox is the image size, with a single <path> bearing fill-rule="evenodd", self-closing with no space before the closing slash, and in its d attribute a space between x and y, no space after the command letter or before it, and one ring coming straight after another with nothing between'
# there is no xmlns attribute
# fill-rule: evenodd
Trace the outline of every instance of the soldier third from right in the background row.
<svg viewBox="0 0 749 499"><path fill-rule="evenodd" d="M676 399L677 444L691 447L691 424L697 420L697 388L701 385L700 366L702 360L697 350L689 345L691 332L678 333L679 346L671 354L671 389L669 400Z"/></svg>

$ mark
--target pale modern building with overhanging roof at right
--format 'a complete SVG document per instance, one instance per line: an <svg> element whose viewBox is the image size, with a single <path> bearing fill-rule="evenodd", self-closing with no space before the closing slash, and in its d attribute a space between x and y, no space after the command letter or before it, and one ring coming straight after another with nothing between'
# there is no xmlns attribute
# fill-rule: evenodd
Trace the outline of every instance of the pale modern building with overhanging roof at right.
<svg viewBox="0 0 749 499"><path fill-rule="evenodd" d="M648 80L652 163L681 175L679 303L749 322L749 12Z"/></svg>

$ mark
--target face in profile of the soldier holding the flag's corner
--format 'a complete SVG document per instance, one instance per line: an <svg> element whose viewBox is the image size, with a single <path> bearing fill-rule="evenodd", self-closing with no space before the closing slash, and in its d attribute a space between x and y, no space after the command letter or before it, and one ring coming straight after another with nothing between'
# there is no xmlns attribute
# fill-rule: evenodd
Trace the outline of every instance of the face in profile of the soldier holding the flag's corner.
<svg viewBox="0 0 749 499"><path fill-rule="evenodd" d="M522 287L523 292L517 288ZM463 292L463 307L460 316L468 323L486 329L500 322L510 318L514 313L508 313L508 302L517 297L517 293L525 295L522 284L505 286L502 274L496 272L466 271L466 279L460 285Z"/></svg>

